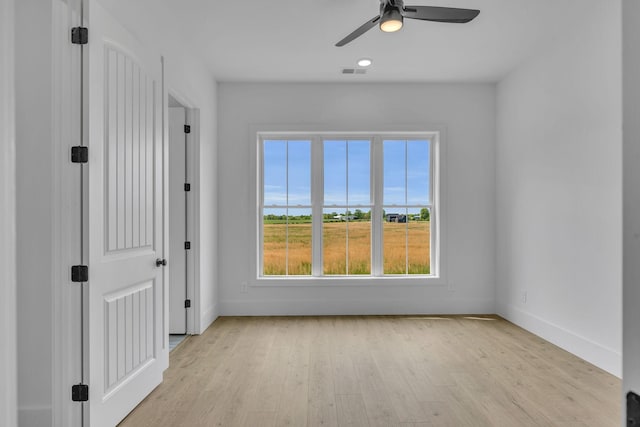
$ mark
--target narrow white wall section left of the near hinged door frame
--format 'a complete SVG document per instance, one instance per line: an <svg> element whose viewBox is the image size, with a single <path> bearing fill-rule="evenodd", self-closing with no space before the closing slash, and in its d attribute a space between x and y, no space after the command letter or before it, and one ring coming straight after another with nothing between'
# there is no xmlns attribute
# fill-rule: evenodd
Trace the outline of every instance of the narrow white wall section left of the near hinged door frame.
<svg viewBox="0 0 640 427"><path fill-rule="evenodd" d="M18 403L20 425L51 425L52 2L16 2ZM22 33L20 33L22 34Z"/></svg>

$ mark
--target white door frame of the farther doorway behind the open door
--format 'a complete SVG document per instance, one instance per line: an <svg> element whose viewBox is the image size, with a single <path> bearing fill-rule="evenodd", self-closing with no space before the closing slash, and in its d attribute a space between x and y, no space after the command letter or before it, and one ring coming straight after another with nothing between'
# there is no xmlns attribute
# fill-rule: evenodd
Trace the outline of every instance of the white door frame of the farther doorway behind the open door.
<svg viewBox="0 0 640 427"><path fill-rule="evenodd" d="M170 66L170 64L169 64ZM167 67L167 63L165 62L165 67ZM172 73L167 73L165 68L165 75L171 75ZM196 159L200 158L200 110L195 107L194 103L191 102L187 97L183 96L179 91L174 90L171 86L167 90L168 95L170 95L173 99L178 101L181 106L185 110L185 121L187 125L191 126L191 133L189 135L189 142L191 143L191 150L187 151L187 177L188 181L191 184L191 197L188 198L187 202L187 223L189 224L189 238L191 242L191 250L189 257L189 263L186 268L189 271L188 281L187 281L187 298L191 300L191 310L187 313L187 334L198 334L200 331L200 162L197 162ZM169 135L169 107L165 106L165 114L167 119L165 119L165 135ZM168 141L167 143L171 143ZM168 147L167 147L168 149ZM169 161L171 161L169 159ZM167 168L169 166L167 165ZM168 170L168 169L167 169ZM167 173L168 179L168 173ZM168 188L168 186L166 187ZM168 195L167 195L168 197ZM168 214L169 208L165 207L165 213ZM168 217L168 215L167 215ZM169 218L167 224L171 222ZM168 225L167 225L168 227ZM167 236L169 236L169 232L167 229ZM166 248L169 245L165 246ZM168 254L169 263L171 262L171 257L175 256L172 254ZM167 277L167 280L168 277ZM168 318L168 315L167 315ZM168 330L168 326L167 326Z"/></svg>

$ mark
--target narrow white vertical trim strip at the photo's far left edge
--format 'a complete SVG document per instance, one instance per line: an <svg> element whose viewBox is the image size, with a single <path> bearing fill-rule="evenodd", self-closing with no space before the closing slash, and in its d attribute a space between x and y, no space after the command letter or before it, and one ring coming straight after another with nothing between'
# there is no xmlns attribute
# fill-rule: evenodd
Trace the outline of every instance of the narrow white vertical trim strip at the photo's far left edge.
<svg viewBox="0 0 640 427"><path fill-rule="evenodd" d="M17 425L14 4L0 0L0 425Z"/></svg>

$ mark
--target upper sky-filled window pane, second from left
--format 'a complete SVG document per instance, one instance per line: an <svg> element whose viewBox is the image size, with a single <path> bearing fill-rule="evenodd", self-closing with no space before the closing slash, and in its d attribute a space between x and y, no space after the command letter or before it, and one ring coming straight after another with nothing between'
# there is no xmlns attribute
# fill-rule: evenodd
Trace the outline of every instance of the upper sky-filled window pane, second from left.
<svg viewBox="0 0 640 427"><path fill-rule="evenodd" d="M311 141L289 141L289 206L311 205Z"/></svg>

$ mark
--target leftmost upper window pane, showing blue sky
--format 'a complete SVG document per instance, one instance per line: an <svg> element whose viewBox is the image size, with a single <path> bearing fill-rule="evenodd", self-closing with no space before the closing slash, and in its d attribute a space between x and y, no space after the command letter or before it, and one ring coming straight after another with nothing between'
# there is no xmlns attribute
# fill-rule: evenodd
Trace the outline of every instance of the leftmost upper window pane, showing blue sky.
<svg viewBox="0 0 640 427"><path fill-rule="evenodd" d="M287 142L264 141L264 204L287 203Z"/></svg>

